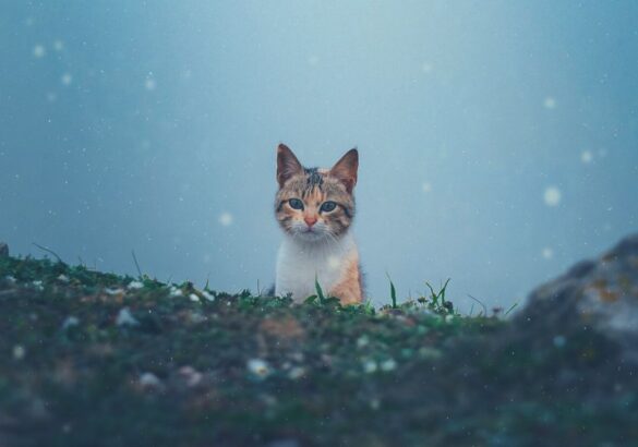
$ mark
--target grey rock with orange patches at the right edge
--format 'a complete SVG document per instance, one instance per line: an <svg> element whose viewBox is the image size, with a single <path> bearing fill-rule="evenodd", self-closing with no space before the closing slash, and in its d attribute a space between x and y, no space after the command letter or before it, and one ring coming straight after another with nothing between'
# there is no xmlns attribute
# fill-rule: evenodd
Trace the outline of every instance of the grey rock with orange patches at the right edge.
<svg viewBox="0 0 638 447"><path fill-rule="evenodd" d="M638 234L535 289L517 319L554 334L591 327L638 363Z"/></svg>

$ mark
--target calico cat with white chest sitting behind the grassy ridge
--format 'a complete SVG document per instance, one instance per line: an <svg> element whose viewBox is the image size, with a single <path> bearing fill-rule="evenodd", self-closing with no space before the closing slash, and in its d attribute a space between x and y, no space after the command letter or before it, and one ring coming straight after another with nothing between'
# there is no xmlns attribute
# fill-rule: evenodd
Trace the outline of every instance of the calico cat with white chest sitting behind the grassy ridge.
<svg viewBox="0 0 638 447"><path fill-rule="evenodd" d="M275 216L284 230L275 293L302 302L315 291L341 304L363 301L359 252L350 233L359 153L349 150L332 169L304 168L285 144L277 147Z"/></svg>

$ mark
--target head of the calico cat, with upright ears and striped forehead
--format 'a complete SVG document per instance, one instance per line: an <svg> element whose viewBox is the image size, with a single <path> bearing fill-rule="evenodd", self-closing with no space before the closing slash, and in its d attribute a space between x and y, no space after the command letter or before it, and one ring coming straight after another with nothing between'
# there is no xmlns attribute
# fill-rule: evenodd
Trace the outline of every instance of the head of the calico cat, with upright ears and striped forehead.
<svg viewBox="0 0 638 447"><path fill-rule="evenodd" d="M349 150L332 169L304 168L292 150L277 147L275 201L277 221L292 238L305 242L336 240L354 217L359 153Z"/></svg>

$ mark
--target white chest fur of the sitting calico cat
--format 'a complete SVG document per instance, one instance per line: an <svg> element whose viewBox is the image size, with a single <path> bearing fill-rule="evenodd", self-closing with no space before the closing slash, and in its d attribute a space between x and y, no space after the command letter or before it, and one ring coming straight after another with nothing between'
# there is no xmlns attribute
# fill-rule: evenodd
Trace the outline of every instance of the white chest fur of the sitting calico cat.
<svg viewBox="0 0 638 447"><path fill-rule="evenodd" d="M277 283L275 293L292 294L297 302L316 294L315 278L327 293L342 278L349 253L356 250L349 234L337 242L312 244L286 238L277 255Z"/></svg>

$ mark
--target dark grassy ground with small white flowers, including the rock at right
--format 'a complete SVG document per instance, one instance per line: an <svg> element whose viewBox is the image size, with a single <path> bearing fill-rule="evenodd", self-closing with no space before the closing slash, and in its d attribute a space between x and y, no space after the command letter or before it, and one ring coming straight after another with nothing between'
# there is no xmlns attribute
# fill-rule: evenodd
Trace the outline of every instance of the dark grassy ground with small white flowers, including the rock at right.
<svg viewBox="0 0 638 447"><path fill-rule="evenodd" d="M310 301L0 246L0 446L638 444L638 237L511 318Z"/></svg>

